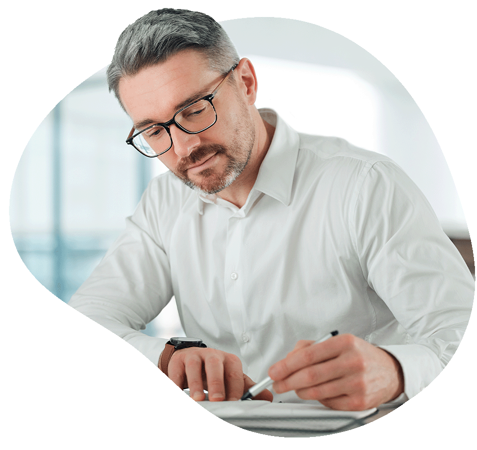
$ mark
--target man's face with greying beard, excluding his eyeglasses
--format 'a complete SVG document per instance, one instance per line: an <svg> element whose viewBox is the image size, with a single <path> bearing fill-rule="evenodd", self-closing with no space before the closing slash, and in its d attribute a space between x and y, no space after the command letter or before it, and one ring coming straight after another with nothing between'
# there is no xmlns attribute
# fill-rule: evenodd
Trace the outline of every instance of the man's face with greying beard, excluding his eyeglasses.
<svg viewBox="0 0 477 450"><path fill-rule="evenodd" d="M181 106L211 93L222 79L200 53L184 51L122 78L119 94L135 127L143 129L167 122ZM184 183L205 193L219 192L237 179L255 143L254 123L237 88L225 81L212 101L217 122L199 134L171 125L173 146L158 156Z"/></svg>

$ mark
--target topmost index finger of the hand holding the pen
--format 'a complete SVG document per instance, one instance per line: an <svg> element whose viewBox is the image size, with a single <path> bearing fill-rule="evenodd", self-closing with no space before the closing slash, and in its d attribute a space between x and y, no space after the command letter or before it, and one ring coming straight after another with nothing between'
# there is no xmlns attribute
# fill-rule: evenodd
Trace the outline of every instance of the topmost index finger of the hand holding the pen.
<svg viewBox="0 0 477 450"><path fill-rule="evenodd" d="M274 380L281 380L303 367L338 356L341 348L339 342L335 341L336 337L324 342L305 345L292 351L285 358L273 364L268 370L268 375Z"/></svg>

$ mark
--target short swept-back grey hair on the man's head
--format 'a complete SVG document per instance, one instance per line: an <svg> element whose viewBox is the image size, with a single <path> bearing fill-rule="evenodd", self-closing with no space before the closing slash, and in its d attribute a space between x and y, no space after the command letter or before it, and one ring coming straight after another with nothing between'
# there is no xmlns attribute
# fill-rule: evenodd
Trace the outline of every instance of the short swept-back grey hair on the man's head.
<svg viewBox="0 0 477 450"><path fill-rule="evenodd" d="M212 17L186 9L158 9L137 19L119 36L107 70L110 92L114 91L124 109L118 92L122 77L133 76L186 49L202 52L209 67L224 75L239 62L229 36Z"/></svg>

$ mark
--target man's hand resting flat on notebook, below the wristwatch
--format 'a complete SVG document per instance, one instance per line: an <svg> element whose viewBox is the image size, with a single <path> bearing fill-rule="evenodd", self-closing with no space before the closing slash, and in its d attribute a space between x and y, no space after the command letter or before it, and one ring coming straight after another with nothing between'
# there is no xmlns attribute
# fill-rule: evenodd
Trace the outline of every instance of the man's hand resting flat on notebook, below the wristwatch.
<svg viewBox="0 0 477 450"><path fill-rule="evenodd" d="M215 348L188 347L176 350L169 360L169 378L181 389L190 390L196 401L238 400L255 382L242 371L240 358ZM265 389L254 399L272 401L273 394Z"/></svg>

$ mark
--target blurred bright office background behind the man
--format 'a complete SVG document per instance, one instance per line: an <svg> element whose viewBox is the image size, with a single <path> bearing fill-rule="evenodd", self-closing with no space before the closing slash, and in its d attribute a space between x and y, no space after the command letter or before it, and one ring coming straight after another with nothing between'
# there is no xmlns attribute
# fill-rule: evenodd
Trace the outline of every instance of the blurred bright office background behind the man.
<svg viewBox="0 0 477 450"><path fill-rule="evenodd" d="M255 66L258 107L276 109L299 131L344 137L394 159L424 192L474 273L465 215L444 156L392 73L361 47L314 24L255 17L222 25ZM126 145L131 121L108 92L105 72L93 74L45 117L12 185L10 220L19 254L65 302L121 232L148 181L166 170ZM173 301L146 333L182 334Z"/></svg>

